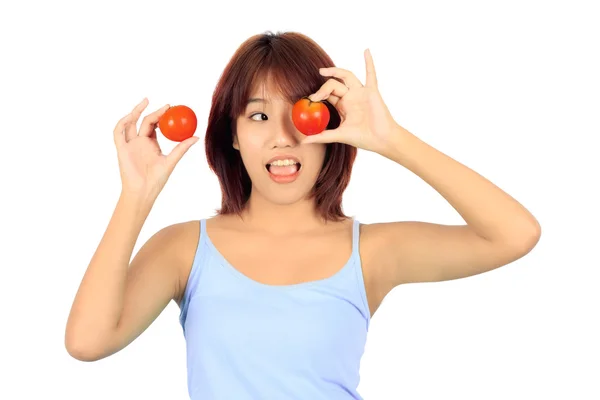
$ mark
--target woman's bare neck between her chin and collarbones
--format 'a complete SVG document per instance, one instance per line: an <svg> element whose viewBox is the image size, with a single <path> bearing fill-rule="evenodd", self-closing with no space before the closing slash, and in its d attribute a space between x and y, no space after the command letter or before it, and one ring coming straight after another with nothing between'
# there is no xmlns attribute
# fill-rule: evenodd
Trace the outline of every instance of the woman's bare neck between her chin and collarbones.
<svg viewBox="0 0 600 400"><path fill-rule="evenodd" d="M293 204L274 204L253 191L242 213L244 221L270 233L305 232L323 226L313 199Z"/></svg>

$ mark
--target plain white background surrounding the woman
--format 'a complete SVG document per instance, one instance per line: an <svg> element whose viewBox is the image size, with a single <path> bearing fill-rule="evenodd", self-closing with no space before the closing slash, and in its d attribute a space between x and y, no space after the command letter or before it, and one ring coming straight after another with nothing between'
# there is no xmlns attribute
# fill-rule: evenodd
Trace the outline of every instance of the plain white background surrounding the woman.
<svg viewBox="0 0 600 400"><path fill-rule="evenodd" d="M491 179L542 225L538 246L517 262L390 293L372 321L362 395L600 398L594 3L3 2L0 398L187 398L175 304L95 363L69 357L65 323L119 195L117 120L145 96L149 110L186 104L203 138L229 57L267 30L309 35L361 79L369 47L400 125ZM159 141L166 152L174 145ZM219 201L201 142L175 169L135 251L165 225L212 215ZM364 223L461 222L418 177L363 151L344 206Z"/></svg>

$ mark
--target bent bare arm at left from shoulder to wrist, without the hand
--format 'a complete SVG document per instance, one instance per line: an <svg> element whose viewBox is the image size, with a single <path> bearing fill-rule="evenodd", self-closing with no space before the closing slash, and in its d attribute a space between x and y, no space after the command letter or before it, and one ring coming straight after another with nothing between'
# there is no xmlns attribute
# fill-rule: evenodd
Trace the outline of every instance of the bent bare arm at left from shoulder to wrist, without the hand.
<svg viewBox="0 0 600 400"><path fill-rule="evenodd" d="M65 346L78 360L96 361L123 349L180 297L181 272L193 257L189 246L182 248L189 243L183 238L189 223L160 230L129 263L149 209L135 196L119 199L67 322Z"/></svg>

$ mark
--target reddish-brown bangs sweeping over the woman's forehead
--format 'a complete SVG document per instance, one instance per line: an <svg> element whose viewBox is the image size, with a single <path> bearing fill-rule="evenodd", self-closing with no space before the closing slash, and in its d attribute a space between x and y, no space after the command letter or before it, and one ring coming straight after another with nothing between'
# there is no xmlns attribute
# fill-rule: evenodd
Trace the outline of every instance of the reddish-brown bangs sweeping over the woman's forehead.
<svg viewBox="0 0 600 400"><path fill-rule="evenodd" d="M312 46L270 38L268 46L242 55L236 84L232 85L230 118L240 116L252 93L280 95L294 104L304 96L316 92L327 78L319 68L331 67L333 62ZM247 56L247 57L244 57Z"/></svg>

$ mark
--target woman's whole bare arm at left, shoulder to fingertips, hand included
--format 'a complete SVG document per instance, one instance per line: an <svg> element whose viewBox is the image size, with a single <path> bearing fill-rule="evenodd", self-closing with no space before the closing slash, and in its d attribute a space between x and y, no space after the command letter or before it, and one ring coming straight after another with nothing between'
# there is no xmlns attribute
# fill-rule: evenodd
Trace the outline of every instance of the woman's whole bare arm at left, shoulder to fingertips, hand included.
<svg viewBox="0 0 600 400"><path fill-rule="evenodd" d="M67 321L65 346L82 361L107 357L131 343L178 296L186 224L156 233L131 255L138 236L173 169L198 141L191 137L168 155L156 139L156 124L168 105L136 123L144 99L113 130L122 191L106 232L85 272ZM189 236L189 235L187 235ZM189 252L188 252L189 253Z"/></svg>

